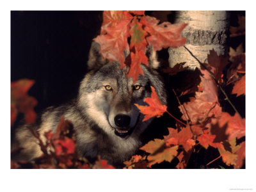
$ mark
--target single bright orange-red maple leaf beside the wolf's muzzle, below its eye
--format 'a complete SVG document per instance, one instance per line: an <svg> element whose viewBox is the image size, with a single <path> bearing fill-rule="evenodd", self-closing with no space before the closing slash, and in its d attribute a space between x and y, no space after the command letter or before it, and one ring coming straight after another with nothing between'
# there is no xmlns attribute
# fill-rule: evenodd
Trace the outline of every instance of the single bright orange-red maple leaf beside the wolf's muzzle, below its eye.
<svg viewBox="0 0 256 192"><path fill-rule="evenodd" d="M140 112L145 115L145 117L143 118L143 122L152 118L153 116L159 117L163 115L163 113L167 109L167 106L163 105L161 100L157 96L157 93L153 86L151 86L151 90L151 97L147 97L144 99L144 101L147 102L149 106L140 106L138 104L135 104L135 106L140 109Z"/></svg>

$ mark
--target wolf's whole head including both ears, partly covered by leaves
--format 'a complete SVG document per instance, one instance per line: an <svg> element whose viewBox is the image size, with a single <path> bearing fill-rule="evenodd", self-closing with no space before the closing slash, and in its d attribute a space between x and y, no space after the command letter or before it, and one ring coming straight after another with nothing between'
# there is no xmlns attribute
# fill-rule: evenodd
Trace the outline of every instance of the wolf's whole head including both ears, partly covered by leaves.
<svg viewBox="0 0 256 192"><path fill-rule="evenodd" d="M134 104L146 105L143 100L150 97L150 86L154 86L159 99L166 104L164 85L156 72L159 65L156 52L150 47L147 54L149 65L141 63L144 76L140 75L134 83L127 78L126 68L120 70L117 61L102 60L99 44L92 44L88 60L91 71L81 82L77 103L89 122L113 137L140 136L145 130L151 120L142 122L144 115Z"/></svg>

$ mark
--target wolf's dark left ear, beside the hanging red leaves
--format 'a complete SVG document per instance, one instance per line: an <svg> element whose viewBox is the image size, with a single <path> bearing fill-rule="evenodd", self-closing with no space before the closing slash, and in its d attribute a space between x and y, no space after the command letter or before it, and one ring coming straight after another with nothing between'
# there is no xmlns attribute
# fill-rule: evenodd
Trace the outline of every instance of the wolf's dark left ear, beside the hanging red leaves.
<svg viewBox="0 0 256 192"><path fill-rule="evenodd" d="M88 69L99 68L107 62L108 60L102 60L102 56L100 55L100 44L92 42L87 62Z"/></svg>

